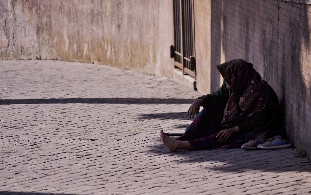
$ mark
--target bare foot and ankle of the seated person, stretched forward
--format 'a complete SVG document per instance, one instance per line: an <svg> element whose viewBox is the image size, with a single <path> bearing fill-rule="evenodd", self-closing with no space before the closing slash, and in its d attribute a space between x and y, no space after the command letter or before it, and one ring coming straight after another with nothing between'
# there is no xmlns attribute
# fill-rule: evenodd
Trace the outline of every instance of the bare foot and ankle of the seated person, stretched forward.
<svg viewBox="0 0 311 195"><path fill-rule="evenodd" d="M163 144L168 148L170 152L176 152L181 149L185 149L185 150L195 149L188 141L175 140L175 139L172 139L166 136L163 130L161 130L160 134L161 134L160 137L161 137Z"/></svg>

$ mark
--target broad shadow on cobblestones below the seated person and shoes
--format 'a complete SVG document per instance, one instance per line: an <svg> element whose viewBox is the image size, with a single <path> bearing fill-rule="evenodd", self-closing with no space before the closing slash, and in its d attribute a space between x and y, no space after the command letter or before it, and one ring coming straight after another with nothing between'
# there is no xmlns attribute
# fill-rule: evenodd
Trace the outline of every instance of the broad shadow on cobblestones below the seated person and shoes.
<svg viewBox="0 0 311 195"><path fill-rule="evenodd" d="M159 138L154 140L159 144L149 146L148 153L174 156L176 164L198 164L200 168L215 170L222 173L253 171L261 172L311 172L311 161L307 158L295 158L292 148L278 150L243 150L219 149L169 152Z"/></svg>

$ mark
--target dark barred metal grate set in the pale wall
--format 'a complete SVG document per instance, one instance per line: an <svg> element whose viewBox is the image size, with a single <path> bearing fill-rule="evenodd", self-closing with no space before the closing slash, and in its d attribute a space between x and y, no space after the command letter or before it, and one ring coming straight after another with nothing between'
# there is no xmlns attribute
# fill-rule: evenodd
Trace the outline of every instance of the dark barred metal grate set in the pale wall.
<svg viewBox="0 0 311 195"><path fill-rule="evenodd" d="M193 0L173 0L174 65L196 79Z"/></svg>

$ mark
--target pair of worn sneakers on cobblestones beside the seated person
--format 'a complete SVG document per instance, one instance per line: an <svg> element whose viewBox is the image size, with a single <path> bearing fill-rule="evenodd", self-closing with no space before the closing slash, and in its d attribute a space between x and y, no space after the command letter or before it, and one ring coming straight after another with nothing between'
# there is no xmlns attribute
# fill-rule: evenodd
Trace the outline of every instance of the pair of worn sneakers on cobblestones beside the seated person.
<svg viewBox="0 0 311 195"><path fill-rule="evenodd" d="M262 134L258 136L256 139L253 139L241 146L241 148L246 150L254 150L254 149L279 149L279 148L287 148L293 146L292 142L287 141L282 138L280 135L276 135L272 138L266 139L266 134Z"/></svg>

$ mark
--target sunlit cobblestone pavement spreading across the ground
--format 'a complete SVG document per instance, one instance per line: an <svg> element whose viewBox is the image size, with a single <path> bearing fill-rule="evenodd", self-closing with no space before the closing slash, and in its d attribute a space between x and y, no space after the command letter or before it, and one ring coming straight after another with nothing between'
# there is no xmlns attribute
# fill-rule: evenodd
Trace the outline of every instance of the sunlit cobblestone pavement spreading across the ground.
<svg viewBox="0 0 311 195"><path fill-rule="evenodd" d="M166 78L97 64L0 61L0 194L308 194L293 149L179 151L200 96Z"/></svg>

